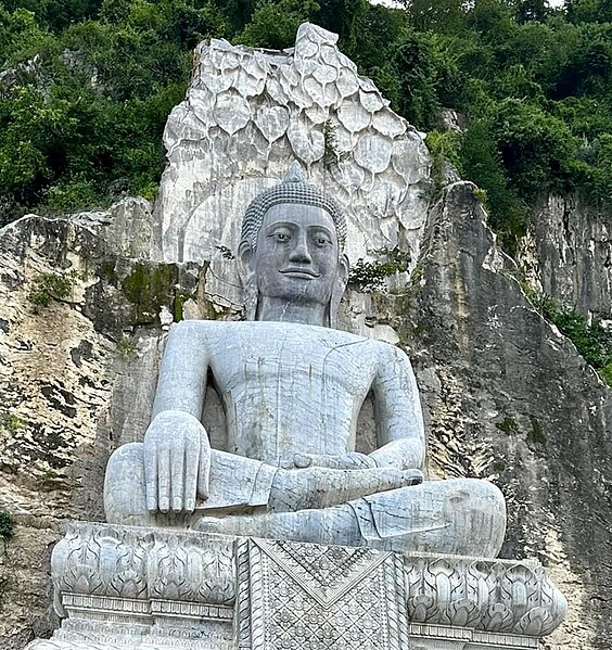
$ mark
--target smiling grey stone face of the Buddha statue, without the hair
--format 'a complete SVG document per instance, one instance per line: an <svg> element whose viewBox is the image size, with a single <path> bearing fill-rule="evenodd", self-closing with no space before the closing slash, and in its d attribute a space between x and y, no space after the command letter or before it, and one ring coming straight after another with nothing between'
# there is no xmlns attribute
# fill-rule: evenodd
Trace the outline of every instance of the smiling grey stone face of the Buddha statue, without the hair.
<svg viewBox="0 0 612 650"><path fill-rule="evenodd" d="M332 217L311 205L272 206L257 235L253 263L260 297L329 305L340 269Z"/></svg>

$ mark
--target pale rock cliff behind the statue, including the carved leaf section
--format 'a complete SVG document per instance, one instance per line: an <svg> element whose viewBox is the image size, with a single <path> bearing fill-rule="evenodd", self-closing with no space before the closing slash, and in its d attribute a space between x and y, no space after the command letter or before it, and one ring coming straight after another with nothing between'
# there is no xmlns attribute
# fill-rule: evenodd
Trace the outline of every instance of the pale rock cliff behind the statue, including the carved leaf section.
<svg viewBox="0 0 612 650"><path fill-rule="evenodd" d="M532 308L473 187L452 184L432 204L421 135L333 35L307 26L277 54L200 47L165 143L154 206L126 200L0 231L0 507L17 521L0 555L0 648L54 624L51 545L62 522L102 518L107 456L148 424L163 323L240 317L241 212L294 158L345 206L353 263L410 260L410 278L387 278L386 293L356 282L341 322L415 360L433 476L501 486L503 555L536 556L570 601L549 648L609 648L611 393ZM563 264L548 277L569 272Z"/></svg>

